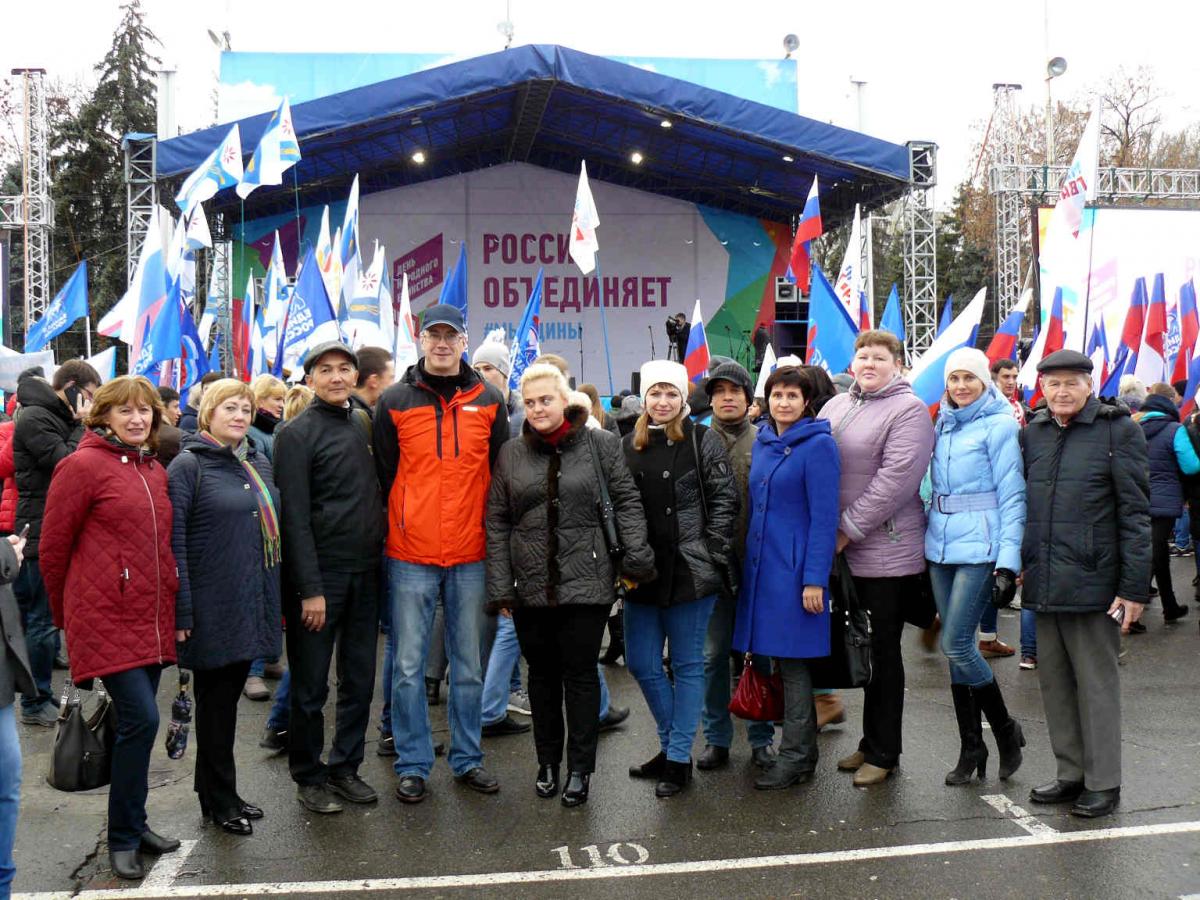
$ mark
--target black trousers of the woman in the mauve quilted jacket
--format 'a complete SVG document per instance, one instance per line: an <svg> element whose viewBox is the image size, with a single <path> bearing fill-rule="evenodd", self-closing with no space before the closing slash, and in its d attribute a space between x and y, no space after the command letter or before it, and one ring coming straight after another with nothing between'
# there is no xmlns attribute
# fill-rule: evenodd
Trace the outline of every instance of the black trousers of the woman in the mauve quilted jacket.
<svg viewBox="0 0 1200 900"><path fill-rule="evenodd" d="M858 598L871 612L871 683L863 691L863 739L858 749L866 762L890 769L899 764L904 724L905 592L913 590L911 576L898 578L854 577Z"/></svg>

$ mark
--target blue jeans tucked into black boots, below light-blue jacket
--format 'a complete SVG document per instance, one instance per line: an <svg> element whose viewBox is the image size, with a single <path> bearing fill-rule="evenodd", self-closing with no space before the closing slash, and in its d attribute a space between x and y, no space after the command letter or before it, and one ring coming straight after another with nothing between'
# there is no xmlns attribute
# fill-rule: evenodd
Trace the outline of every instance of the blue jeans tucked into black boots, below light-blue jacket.
<svg viewBox="0 0 1200 900"><path fill-rule="evenodd" d="M995 564L929 564L937 614L942 617L942 653L950 664L950 682L982 688L992 682L976 641L976 626L984 607L991 606Z"/></svg>

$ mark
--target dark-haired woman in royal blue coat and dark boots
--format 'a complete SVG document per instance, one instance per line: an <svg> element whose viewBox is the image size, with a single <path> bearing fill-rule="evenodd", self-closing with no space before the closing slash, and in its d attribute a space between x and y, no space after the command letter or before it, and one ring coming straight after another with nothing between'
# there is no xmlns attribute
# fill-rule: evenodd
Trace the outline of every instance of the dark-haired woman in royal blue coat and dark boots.
<svg viewBox="0 0 1200 900"><path fill-rule="evenodd" d="M838 535L841 463L828 397L815 370L784 366L767 379L769 419L750 457L750 521L733 647L774 656L784 677L784 736L760 791L803 784L817 764L817 720L806 659L829 655L829 572Z"/></svg>

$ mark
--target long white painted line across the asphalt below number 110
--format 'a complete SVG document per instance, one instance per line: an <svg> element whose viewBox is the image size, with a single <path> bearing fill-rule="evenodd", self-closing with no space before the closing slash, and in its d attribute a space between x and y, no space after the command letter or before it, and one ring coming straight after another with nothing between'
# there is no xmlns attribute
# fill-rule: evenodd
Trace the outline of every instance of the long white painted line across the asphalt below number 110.
<svg viewBox="0 0 1200 900"><path fill-rule="evenodd" d="M254 894L349 894L362 892L436 890L452 888L486 888L498 884L532 884L540 882L599 881L604 878L637 878L653 875L700 875L731 872L746 869L780 869L798 865L830 865L863 859L901 859L905 857L968 853L985 850L1020 850L1049 847L1058 844L1154 838L1168 834L1200 833L1200 822L1165 822L1162 824L1097 828L1086 832L1052 832L1013 838L985 838L971 841L941 841L935 844L904 844L896 847L863 847L818 853L788 853L772 857L738 859L701 859L690 863L644 863L641 865L605 865L598 869L547 869L529 872L482 872L479 875L426 875L404 878L358 878L346 881L294 881L260 884L179 884L163 889L136 887L128 889L84 890L76 900L143 900L144 898L250 896ZM13 894L19 900L52 900L62 894Z"/></svg>

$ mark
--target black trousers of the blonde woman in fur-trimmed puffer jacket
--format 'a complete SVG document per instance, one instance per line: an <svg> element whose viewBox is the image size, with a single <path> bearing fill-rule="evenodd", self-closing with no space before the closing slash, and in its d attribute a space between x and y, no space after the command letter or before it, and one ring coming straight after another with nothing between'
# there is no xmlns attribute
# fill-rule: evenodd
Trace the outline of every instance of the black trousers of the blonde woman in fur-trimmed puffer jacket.
<svg viewBox="0 0 1200 900"><path fill-rule="evenodd" d="M608 623L605 605L515 610L521 654L529 664L529 712L538 763L563 760L563 704L566 706L566 768L595 772L600 734L600 678L596 656Z"/></svg>

